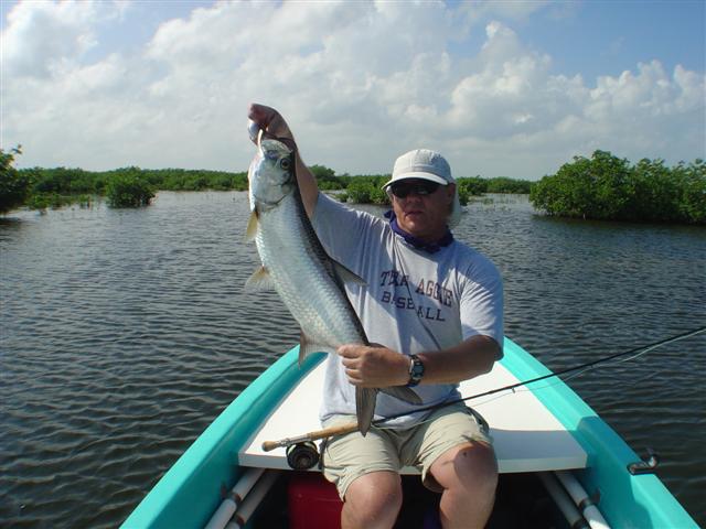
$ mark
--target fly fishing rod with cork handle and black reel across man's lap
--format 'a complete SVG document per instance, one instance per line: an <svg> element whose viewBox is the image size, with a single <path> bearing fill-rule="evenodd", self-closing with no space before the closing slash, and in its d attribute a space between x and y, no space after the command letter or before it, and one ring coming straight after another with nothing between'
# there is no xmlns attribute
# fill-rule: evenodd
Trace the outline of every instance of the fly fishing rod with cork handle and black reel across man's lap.
<svg viewBox="0 0 706 529"><path fill-rule="evenodd" d="M622 358L624 356L628 355L633 355L631 358L625 358L622 361L628 361L628 360L632 360L639 356L642 356L646 353L649 353L650 350L656 349L657 347L662 347L664 345L674 343L674 342L678 342L681 339L685 339L685 338L689 338L692 336L696 336L697 334L700 334L703 332L706 331L706 327L698 327L696 330L693 331L687 331L683 334L678 334L676 336L672 336L670 338L664 338L661 339L659 342L653 342L651 344L648 345L642 345L640 347L635 347L632 348L630 350L623 350L621 353L616 353L614 355L610 355L610 356L606 356L602 358L598 358L597 360L591 360L591 361L587 361L585 364L580 364L578 366L574 366L574 367L567 367L565 369L560 369L556 373L549 373L547 375L542 375L539 377L536 378L532 378L530 380L523 380L520 382L515 382L515 384L511 384L509 386L503 386L501 388L495 388L495 389L491 389L489 391L483 391L482 393L477 393L477 395L472 395L470 397L464 397L461 399L456 399L449 402L442 402L440 404L431 404L431 406L427 406L427 407L422 407L419 408L417 410L414 411L414 413L418 413L421 411L431 411L431 410L438 410L441 408L446 408L448 406L453 406L457 404L459 402L466 402L467 400L472 400L472 399L479 399L481 397L488 397L490 395L495 395L499 393L501 391L511 391L514 390L515 388L518 388L521 386L527 386L534 382L539 382L542 380L546 380L548 378L553 378L553 377L560 377L561 375L566 375L568 373L574 373L574 371L586 371L588 369L592 369L593 367L600 365L600 364L606 364L612 360L616 360L617 358ZM399 417L409 414L409 412L406 413L397 413L391 417L386 417L383 419L377 419L375 421L373 421L373 425L375 427L381 427L384 425L387 421L392 421L393 419L397 419ZM263 451L265 452L270 452L275 449L291 449L295 447L297 445L303 446L304 450L302 450L299 454L295 454L295 453L290 453L290 451L288 450L287 453L287 458L290 463L290 465L292 467L293 464L301 464L304 461L309 461L309 458L313 458L314 455L312 454L312 449L311 449L311 444L313 444L313 441L318 441L321 439L328 439L328 438L333 438L336 435L344 435L346 433L352 433L357 431L357 422L351 422L347 424L342 424L342 425L338 425L338 427L331 427L331 428L324 428L322 430L317 430L314 432L309 432L309 433L304 433L302 435L298 435L296 438L285 438L281 439L279 441L265 441L263 443ZM315 454L315 460L318 461L318 453L315 453L315 446L313 447L313 453ZM298 460L299 457L299 460ZM304 461L302 461L304 460ZM315 462L313 463L315 464Z"/></svg>

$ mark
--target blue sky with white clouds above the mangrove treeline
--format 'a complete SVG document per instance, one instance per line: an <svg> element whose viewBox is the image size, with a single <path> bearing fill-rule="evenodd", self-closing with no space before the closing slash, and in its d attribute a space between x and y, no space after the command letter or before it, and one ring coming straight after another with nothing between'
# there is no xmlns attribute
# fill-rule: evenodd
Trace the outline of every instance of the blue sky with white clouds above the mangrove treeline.
<svg viewBox="0 0 706 529"><path fill-rule="evenodd" d="M246 171L253 101L338 174L706 158L706 0L0 2L18 168Z"/></svg>

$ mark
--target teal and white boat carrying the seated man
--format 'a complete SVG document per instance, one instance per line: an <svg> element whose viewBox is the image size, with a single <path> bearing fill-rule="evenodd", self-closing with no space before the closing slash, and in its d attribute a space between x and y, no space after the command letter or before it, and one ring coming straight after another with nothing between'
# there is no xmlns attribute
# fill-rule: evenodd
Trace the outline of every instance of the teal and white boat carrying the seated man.
<svg viewBox="0 0 706 529"><path fill-rule="evenodd" d="M654 454L640 458L510 338L504 353L489 374L460 385L468 404L490 423L498 456L489 528L698 527L655 475ZM211 423L121 527L340 527L342 503L317 465L318 447L299 439L321 428L324 357L309 356L299 366L298 347L282 355ZM535 379L541 381L524 382ZM272 450L274 444L289 446ZM416 474L403 469L396 527L440 527L439 496Z"/></svg>

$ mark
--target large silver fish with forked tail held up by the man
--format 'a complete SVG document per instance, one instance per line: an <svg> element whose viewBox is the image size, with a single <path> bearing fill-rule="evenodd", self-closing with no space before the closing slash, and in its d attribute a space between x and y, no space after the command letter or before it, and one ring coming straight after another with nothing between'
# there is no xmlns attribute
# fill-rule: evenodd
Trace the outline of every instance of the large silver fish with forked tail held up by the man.
<svg viewBox="0 0 706 529"><path fill-rule="evenodd" d="M295 151L265 138L250 122L257 152L248 170L250 217L246 240L255 240L261 266L247 280L247 292L275 290L300 326L299 364L312 353L335 354L343 344L370 345L363 324L345 293L345 283L365 284L332 259L319 240L301 198ZM255 138L256 136L256 138ZM355 414L365 435L378 391L421 404L405 386L355 388Z"/></svg>

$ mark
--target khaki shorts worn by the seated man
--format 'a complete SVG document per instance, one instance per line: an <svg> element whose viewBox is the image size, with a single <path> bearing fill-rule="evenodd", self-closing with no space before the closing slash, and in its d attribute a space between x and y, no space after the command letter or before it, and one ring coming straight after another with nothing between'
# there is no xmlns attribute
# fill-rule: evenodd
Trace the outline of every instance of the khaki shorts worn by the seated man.
<svg viewBox="0 0 706 529"><path fill-rule="evenodd" d="M325 421L333 427L355 421L355 415L339 415ZM404 466L421 471L421 481L430 490L442 492L429 474L434 462L447 450L468 442L491 445L488 423L462 402L434 411L425 422L409 429L372 428L367 435L360 432L331 438L321 451L323 474L334 483L341 499L351 483L371 472L398 473Z"/></svg>

